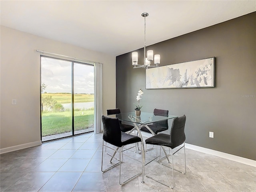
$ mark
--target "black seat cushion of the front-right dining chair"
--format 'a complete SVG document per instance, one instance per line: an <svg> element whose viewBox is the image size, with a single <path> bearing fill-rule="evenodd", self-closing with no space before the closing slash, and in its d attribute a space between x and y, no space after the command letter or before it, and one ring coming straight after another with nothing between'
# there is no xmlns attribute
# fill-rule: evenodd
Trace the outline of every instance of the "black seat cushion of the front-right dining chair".
<svg viewBox="0 0 256 192"><path fill-rule="evenodd" d="M152 136L150 138L147 138L145 140L146 144L152 144L152 145L162 145L162 146L166 146L166 147L170 147L172 149L174 149L176 146L181 145L180 144L176 144L175 146L172 144L172 141L170 139L170 135L169 134L157 134L155 136Z"/></svg>

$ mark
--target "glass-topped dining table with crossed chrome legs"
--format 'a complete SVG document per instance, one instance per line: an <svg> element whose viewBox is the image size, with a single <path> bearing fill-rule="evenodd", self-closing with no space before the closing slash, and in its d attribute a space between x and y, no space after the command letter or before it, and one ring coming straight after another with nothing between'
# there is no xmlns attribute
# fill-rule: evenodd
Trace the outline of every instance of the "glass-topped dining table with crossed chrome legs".
<svg viewBox="0 0 256 192"><path fill-rule="evenodd" d="M138 136L142 139L141 142L141 154L142 154L142 183L144 183L144 170L145 170L145 154L146 151L144 149L144 142L142 138L142 134L140 132L140 128L146 127L153 135L155 133L150 129L148 126L149 124L155 123L155 122L160 122L163 120L168 120L172 118L176 118L178 116L175 115L164 115L164 114L154 114L154 113L148 113L148 112L141 112L140 116L136 116L135 112L128 112L128 113L120 113L120 114L115 114L115 115L108 115L110 117L115 117L121 120L122 122L130 123L134 125L134 129L132 129L130 133L132 133L134 130L137 130ZM166 154L165 150L163 150L165 153L165 156L168 159L168 155ZM137 152L137 150L136 150ZM168 159L169 162L169 159Z"/></svg>

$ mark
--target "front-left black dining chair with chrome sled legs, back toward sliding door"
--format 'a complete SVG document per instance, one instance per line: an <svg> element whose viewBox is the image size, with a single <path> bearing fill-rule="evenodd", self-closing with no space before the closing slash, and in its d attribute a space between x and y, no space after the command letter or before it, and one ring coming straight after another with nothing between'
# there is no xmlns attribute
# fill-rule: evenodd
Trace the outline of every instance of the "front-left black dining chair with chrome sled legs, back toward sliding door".
<svg viewBox="0 0 256 192"><path fill-rule="evenodd" d="M142 142L142 140L138 136L134 136L134 135L122 132L118 118L112 118L112 117L102 115L102 124L103 124L103 137L102 137L103 141L105 141L106 143L111 144L113 146L116 146L117 148L116 149L111 148L110 146L107 146L106 144L104 144L104 142L102 142L101 171L106 172L107 170L113 168L114 166L119 165L119 184L122 185L122 184L128 182L129 180L131 180L132 178L138 176L141 173L140 172L121 183L121 162L123 161L123 158L121 158L121 156L126 155L126 154L123 154L123 147L128 144ZM114 150L115 153L119 152L118 163L106 168L105 170L103 170L104 147ZM128 155L126 155L126 156L128 156ZM130 156L128 156L128 157L130 157ZM134 160L136 160L136 159L134 159Z"/></svg>

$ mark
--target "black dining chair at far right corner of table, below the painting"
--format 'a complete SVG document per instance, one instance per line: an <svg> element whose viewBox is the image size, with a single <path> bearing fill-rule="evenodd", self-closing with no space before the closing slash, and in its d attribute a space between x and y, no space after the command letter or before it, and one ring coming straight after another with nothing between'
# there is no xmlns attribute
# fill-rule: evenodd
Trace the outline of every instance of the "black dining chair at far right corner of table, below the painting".
<svg viewBox="0 0 256 192"><path fill-rule="evenodd" d="M168 110L163 110L163 109L154 109L154 115L155 116L161 116L161 115L168 115L169 111ZM163 120L160 122L154 122L151 125L148 125L148 127L155 133L158 134L159 132L168 130L168 120ZM148 132L151 133L148 128L142 127L140 131Z"/></svg>

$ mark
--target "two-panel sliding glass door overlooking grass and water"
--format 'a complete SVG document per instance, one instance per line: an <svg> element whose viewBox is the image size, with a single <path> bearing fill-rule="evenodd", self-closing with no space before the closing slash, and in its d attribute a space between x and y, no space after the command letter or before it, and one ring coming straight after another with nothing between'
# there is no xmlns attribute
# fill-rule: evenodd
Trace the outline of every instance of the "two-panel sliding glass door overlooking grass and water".
<svg viewBox="0 0 256 192"><path fill-rule="evenodd" d="M42 141L94 130L94 66L41 56Z"/></svg>

